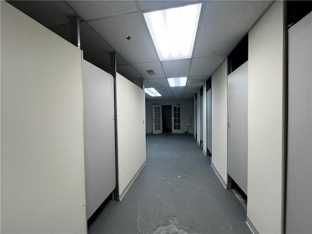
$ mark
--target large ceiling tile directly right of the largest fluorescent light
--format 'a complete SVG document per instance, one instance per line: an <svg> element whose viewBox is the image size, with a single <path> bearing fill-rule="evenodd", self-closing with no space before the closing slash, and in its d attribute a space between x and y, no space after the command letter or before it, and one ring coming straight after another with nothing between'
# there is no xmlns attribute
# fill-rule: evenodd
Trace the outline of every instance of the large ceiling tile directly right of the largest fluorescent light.
<svg viewBox="0 0 312 234"><path fill-rule="evenodd" d="M195 57L228 55L272 1L205 1Z"/></svg>

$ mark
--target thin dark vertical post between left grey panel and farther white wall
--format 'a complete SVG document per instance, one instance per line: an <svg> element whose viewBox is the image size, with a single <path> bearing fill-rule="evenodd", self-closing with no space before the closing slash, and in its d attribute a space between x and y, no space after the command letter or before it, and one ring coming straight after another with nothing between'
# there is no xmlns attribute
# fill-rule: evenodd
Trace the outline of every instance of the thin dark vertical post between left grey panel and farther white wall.
<svg viewBox="0 0 312 234"><path fill-rule="evenodd" d="M115 106L115 162L116 162L116 187L113 191L113 199L119 201L119 184L118 184L118 138L117 138L117 103L116 103L116 52L109 53L111 62L111 75L114 78L114 106Z"/></svg>

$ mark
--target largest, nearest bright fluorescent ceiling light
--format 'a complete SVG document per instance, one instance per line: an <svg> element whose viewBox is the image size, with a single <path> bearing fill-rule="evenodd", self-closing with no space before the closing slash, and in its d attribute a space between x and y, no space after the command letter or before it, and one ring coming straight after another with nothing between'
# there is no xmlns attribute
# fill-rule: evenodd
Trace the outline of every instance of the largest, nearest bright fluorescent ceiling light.
<svg viewBox="0 0 312 234"><path fill-rule="evenodd" d="M192 57L201 4L144 13L160 60Z"/></svg>

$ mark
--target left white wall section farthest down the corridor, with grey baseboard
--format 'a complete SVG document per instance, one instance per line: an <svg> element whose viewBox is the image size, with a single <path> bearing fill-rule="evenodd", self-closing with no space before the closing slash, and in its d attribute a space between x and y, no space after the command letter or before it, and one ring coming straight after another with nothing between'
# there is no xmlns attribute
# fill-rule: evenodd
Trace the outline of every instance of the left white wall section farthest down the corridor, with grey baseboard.
<svg viewBox="0 0 312 234"><path fill-rule="evenodd" d="M117 144L119 199L146 161L145 92L117 73Z"/></svg>

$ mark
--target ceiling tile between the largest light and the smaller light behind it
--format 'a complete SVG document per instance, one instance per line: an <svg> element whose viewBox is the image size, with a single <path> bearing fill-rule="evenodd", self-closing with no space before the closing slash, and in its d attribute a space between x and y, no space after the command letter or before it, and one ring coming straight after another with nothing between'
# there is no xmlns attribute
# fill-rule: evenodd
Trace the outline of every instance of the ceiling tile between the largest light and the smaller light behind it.
<svg viewBox="0 0 312 234"><path fill-rule="evenodd" d="M191 59L176 59L162 61L167 78L187 77L189 75Z"/></svg>

